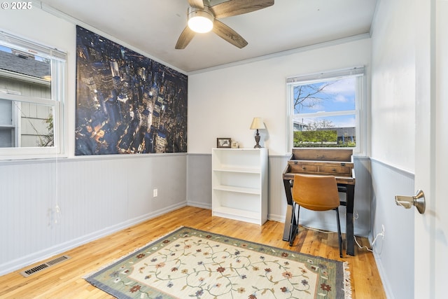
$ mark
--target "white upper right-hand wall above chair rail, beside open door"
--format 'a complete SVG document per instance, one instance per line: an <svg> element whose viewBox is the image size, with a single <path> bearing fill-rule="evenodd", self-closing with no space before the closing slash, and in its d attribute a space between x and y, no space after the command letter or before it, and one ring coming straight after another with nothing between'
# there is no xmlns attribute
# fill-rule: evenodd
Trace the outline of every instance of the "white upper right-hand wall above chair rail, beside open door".
<svg viewBox="0 0 448 299"><path fill-rule="evenodd" d="M412 9L412 1L380 1L372 36L371 156L410 172L415 156Z"/></svg>

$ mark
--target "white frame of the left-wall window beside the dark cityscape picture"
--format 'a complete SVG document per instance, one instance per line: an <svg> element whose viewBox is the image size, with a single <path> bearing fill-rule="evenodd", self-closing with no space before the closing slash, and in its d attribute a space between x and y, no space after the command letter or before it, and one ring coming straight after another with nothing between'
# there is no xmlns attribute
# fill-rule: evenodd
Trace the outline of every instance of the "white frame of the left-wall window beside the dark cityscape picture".
<svg viewBox="0 0 448 299"><path fill-rule="evenodd" d="M0 44L36 56L48 58L51 61L51 98L30 97L20 95L20 92L0 90L0 97L13 101L14 104L29 102L34 104L52 106L54 145L45 147L10 147L0 148L0 160L13 160L23 158L54 158L65 155L66 141L64 138L64 97L66 90L66 53L60 50L27 41L13 34L0 31ZM40 78L16 74L12 71L0 69L0 76L26 81L42 81Z"/></svg>

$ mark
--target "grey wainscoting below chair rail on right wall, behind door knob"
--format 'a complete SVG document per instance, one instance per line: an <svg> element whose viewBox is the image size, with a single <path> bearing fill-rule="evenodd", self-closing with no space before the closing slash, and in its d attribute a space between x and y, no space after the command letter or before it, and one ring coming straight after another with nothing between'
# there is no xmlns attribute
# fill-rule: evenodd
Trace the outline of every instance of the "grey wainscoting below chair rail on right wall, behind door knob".
<svg viewBox="0 0 448 299"><path fill-rule="evenodd" d="M373 253L388 298L414 298L414 209L395 204L395 195L413 195L414 174L372 159L372 235L384 225Z"/></svg>

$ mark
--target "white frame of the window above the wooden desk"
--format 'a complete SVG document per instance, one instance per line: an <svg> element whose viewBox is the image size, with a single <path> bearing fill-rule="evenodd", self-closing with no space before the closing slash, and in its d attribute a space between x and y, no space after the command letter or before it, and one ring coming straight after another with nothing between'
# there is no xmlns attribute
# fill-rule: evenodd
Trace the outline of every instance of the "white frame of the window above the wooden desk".
<svg viewBox="0 0 448 299"><path fill-rule="evenodd" d="M302 118L318 118L323 116L344 116L355 115L356 118L356 147L352 147L353 154L365 155L367 133L365 122L367 118L365 116L365 102L366 102L366 76L364 67L352 67L349 69L339 69L335 71L325 71L316 74L307 74L303 76L293 76L286 79L286 108L287 108L287 131L288 132L288 149L292 152L294 130L293 130L293 98L294 98L294 86L312 84L325 81L335 81L342 78L356 77L356 95L355 95L355 110L350 111L332 111L332 112L316 112L316 113L300 113ZM316 148L316 147L314 147ZM339 148L339 147L334 147ZM326 148L331 149L331 148Z"/></svg>

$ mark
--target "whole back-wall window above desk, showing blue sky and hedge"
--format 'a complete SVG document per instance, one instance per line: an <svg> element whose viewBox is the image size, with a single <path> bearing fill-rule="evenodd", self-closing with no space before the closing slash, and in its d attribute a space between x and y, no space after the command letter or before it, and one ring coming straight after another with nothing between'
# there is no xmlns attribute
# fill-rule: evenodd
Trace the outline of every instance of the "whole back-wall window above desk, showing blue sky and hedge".
<svg viewBox="0 0 448 299"><path fill-rule="evenodd" d="M360 106L364 68L287 79L288 148L353 148L363 151Z"/></svg>

